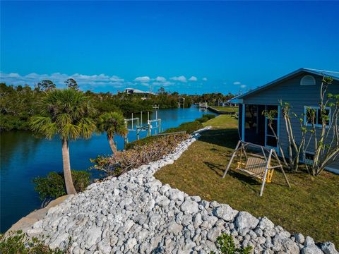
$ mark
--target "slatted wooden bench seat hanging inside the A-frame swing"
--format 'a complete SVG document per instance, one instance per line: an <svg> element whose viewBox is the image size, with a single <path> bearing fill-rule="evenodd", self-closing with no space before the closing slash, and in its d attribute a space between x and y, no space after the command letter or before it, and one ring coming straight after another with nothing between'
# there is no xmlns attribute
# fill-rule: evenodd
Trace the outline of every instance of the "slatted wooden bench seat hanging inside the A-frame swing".
<svg viewBox="0 0 339 254"><path fill-rule="evenodd" d="M270 167L270 165L268 165ZM256 179L260 179L263 181L263 175L265 174L266 169L266 160L257 158L257 157L249 157L244 162L238 162L236 170L242 171L249 176L252 176ZM266 176L266 183L270 183L272 181L274 169L268 169L267 176Z"/></svg>

